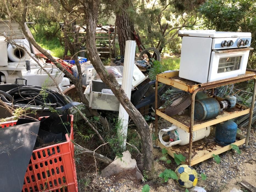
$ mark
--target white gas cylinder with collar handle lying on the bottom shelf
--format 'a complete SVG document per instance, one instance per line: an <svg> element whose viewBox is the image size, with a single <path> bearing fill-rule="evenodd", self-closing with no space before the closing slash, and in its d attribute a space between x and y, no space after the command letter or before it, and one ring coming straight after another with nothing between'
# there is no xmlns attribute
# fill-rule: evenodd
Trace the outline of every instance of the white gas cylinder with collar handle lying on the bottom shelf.
<svg viewBox="0 0 256 192"><path fill-rule="evenodd" d="M210 135L210 132L211 132L210 126L199 129L197 131L193 131L193 142L208 137ZM162 138L164 134L168 134L170 138L173 139L173 141L165 142ZM159 135L160 142L167 147L177 145L177 144L178 145L189 144L189 132L186 132L185 130L177 127L176 125L173 125L167 129L161 129L158 135Z"/></svg>

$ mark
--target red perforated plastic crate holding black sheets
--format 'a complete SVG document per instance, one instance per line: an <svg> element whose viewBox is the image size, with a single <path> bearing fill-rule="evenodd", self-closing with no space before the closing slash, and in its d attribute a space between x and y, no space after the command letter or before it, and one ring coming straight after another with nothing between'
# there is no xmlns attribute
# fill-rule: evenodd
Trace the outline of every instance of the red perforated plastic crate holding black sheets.
<svg viewBox="0 0 256 192"><path fill-rule="evenodd" d="M74 159L73 115L71 133L62 143L33 150L24 178L22 192L77 192L77 175ZM13 126L16 121L4 122L0 128Z"/></svg>

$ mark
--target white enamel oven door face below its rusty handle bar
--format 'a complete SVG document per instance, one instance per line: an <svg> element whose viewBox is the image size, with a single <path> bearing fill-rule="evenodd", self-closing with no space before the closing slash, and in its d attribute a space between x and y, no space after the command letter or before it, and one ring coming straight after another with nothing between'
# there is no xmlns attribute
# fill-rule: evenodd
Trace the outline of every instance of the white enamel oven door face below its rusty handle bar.
<svg viewBox="0 0 256 192"><path fill-rule="evenodd" d="M234 58L236 57L236 58ZM248 61L248 57L249 57L249 50L246 51L235 51L235 52L228 52L228 53L216 53L216 52L212 52L212 56L211 56L211 63L210 63L210 70L209 70L209 78L208 78L208 82L212 82L212 81L218 81L218 80L222 80L222 79L226 79L226 78L232 78L232 77L237 77L239 75L243 75L245 74L246 71L246 66L247 66L247 61ZM237 63L238 61L240 61L240 65L239 65L239 69L238 70L232 70L232 63L226 67L226 71L227 68L229 67L230 71L227 72L218 72L218 67L219 67L219 61L220 59L226 60L227 65L228 60L232 60L236 59ZM224 59L226 58L226 59ZM234 64L235 62L233 62ZM236 64L237 66L237 64Z"/></svg>

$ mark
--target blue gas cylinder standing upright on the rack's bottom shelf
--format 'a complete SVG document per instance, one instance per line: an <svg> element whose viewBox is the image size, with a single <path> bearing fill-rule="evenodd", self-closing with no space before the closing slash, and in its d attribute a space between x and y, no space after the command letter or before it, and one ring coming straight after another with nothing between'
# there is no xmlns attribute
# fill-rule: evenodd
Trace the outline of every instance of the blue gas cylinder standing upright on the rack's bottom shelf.
<svg viewBox="0 0 256 192"><path fill-rule="evenodd" d="M237 124L233 121L227 120L216 124L215 142L219 145L230 145L234 143L237 136Z"/></svg>

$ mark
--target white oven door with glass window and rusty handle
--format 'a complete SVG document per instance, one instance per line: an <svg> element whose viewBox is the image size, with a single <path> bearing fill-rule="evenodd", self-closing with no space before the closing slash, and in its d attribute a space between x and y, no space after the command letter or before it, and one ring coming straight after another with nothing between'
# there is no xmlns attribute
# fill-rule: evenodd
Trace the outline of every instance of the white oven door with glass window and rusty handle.
<svg viewBox="0 0 256 192"><path fill-rule="evenodd" d="M213 50L208 82L244 75L249 57L249 48Z"/></svg>

